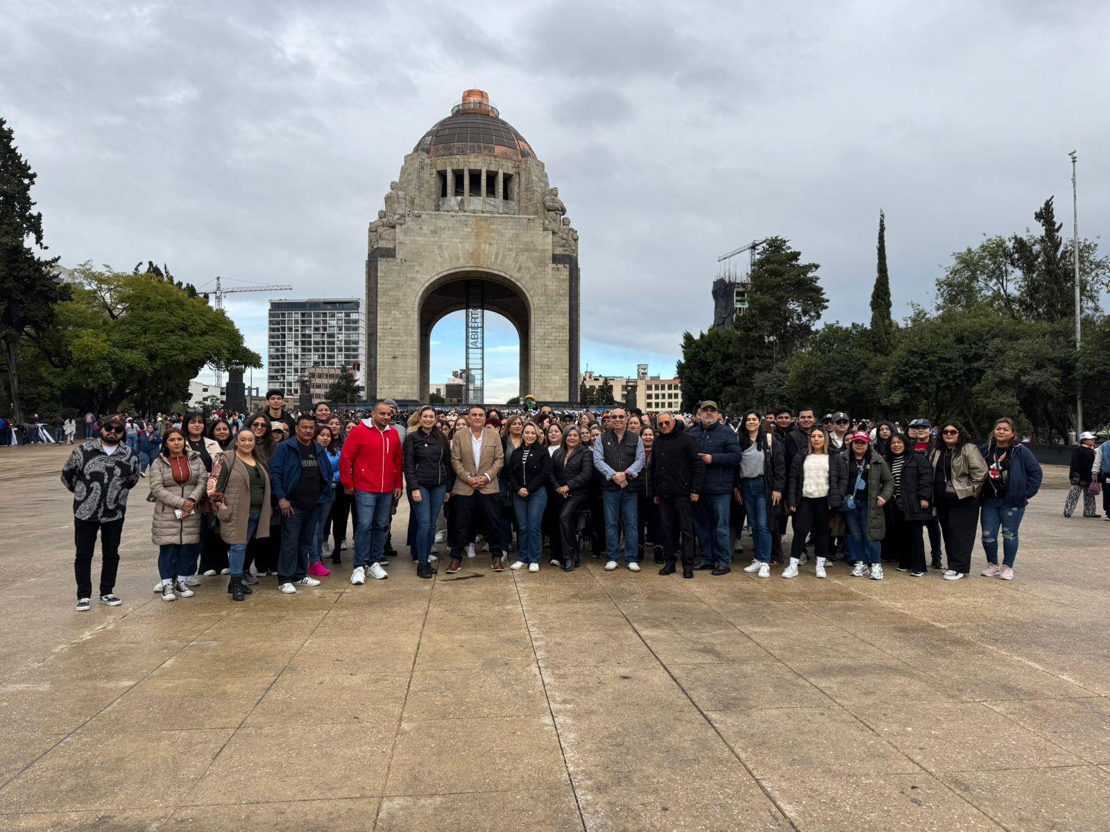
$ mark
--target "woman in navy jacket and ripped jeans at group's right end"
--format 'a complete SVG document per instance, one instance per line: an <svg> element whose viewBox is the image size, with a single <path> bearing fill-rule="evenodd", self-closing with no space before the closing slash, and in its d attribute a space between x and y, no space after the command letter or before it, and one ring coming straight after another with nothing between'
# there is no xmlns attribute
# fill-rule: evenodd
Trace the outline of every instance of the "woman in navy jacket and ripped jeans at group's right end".
<svg viewBox="0 0 1110 832"><path fill-rule="evenodd" d="M1017 442L1013 419L1003 416L995 423L991 440L980 449L987 463L982 487L982 550L987 555L985 578L1013 579L1018 556L1018 527L1026 505L1041 484L1041 467L1029 448ZM1002 537L1002 566L998 566L998 537Z"/></svg>

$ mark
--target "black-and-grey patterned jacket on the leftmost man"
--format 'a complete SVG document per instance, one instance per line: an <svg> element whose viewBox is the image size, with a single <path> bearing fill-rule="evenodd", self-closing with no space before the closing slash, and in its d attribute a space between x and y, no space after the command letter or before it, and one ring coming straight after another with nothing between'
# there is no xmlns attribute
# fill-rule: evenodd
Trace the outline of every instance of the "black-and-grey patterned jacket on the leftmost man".
<svg viewBox="0 0 1110 832"><path fill-rule="evenodd" d="M100 439L73 448L62 466L62 483L73 493L73 516L110 522L123 517L128 491L139 481L139 455L123 443L109 455Z"/></svg>

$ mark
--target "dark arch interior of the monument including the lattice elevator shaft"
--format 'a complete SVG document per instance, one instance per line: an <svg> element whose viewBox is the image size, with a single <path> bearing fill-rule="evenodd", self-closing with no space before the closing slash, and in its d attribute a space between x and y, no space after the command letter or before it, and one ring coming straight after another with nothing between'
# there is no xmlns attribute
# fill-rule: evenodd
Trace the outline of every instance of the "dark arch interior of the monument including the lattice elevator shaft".
<svg viewBox="0 0 1110 832"><path fill-rule="evenodd" d="M484 312L495 312L508 321L516 329L519 339L519 389L518 396L527 395L531 387L531 335L532 304L525 292L505 275L482 270L460 270L433 280L417 298L416 319L420 322L420 388L431 387L432 331L445 316L453 312L472 312L475 298L481 300ZM464 321L464 332L467 334L467 352L474 347L473 325ZM484 326L482 327L484 331ZM483 336L484 337L484 336ZM484 342L477 349L484 352ZM470 357L470 356L468 356ZM466 369L474 372L473 361L467 361ZM485 388L485 362L477 367L478 378L467 378L467 400L491 400L490 395L474 393L474 388Z"/></svg>

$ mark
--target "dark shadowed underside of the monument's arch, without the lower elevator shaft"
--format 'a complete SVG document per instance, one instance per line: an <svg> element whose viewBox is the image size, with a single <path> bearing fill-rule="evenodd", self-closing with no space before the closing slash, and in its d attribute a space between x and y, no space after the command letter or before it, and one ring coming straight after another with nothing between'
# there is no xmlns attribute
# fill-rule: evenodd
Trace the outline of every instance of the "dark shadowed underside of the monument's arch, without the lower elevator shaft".
<svg viewBox="0 0 1110 832"><path fill-rule="evenodd" d="M420 335L418 384L424 396L431 385L432 329L446 315L466 308L466 284L480 281L485 290L484 307L506 318L519 339L519 392L531 390L531 341L533 304L527 290L511 275L492 268L453 268L433 276L416 294L414 315Z"/></svg>

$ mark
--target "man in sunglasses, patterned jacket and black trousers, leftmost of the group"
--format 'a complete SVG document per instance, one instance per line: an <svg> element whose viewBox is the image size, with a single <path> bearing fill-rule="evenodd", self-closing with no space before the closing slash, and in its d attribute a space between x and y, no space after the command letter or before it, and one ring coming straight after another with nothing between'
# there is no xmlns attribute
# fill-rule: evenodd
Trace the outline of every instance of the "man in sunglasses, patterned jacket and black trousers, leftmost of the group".
<svg viewBox="0 0 1110 832"><path fill-rule="evenodd" d="M62 483L73 493L73 538L77 555L77 609L85 612L92 598L92 555L100 532L102 567L100 602L119 607L114 595L115 574L120 566L120 536L128 493L139 481L139 455L123 444L123 422L118 416L104 419L100 438L73 449L62 466Z"/></svg>

